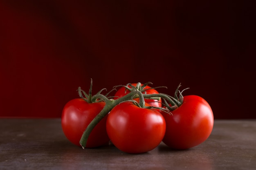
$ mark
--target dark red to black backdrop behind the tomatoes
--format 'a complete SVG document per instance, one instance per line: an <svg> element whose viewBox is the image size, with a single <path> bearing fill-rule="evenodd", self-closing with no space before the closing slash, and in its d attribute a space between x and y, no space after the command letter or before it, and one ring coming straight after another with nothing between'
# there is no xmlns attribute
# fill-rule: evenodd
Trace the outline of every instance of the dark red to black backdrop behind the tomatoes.
<svg viewBox="0 0 256 170"><path fill-rule="evenodd" d="M256 118L254 1L0 0L0 116L60 117L81 86L200 95Z"/></svg>

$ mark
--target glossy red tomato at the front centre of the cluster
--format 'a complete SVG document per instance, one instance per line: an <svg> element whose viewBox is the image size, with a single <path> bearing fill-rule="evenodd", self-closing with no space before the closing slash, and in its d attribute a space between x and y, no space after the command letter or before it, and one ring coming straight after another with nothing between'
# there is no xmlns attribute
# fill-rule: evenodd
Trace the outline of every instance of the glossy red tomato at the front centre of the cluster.
<svg viewBox="0 0 256 170"><path fill-rule="evenodd" d="M149 104L145 104L150 106ZM110 141L121 151L143 153L156 148L162 141L166 124L158 111L140 108L132 102L116 105L106 123Z"/></svg>

